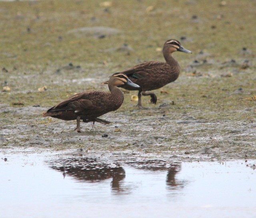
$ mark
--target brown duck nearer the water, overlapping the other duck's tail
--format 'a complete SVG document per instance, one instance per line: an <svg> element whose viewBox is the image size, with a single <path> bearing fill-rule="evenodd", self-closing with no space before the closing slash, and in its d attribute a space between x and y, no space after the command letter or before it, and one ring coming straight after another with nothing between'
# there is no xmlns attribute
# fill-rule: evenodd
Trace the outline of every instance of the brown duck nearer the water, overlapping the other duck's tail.
<svg viewBox="0 0 256 218"><path fill-rule="evenodd" d="M76 120L76 131L80 130L80 119L84 123L99 122L108 124L109 121L100 119L101 115L117 110L124 101L123 92L117 86L128 85L135 88L140 86L134 84L124 73L114 73L109 81L110 93L104 91L84 91L69 97L58 105L43 113L43 117L54 117L62 120Z"/></svg>

